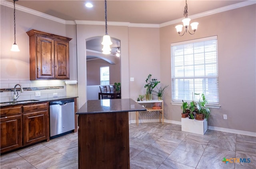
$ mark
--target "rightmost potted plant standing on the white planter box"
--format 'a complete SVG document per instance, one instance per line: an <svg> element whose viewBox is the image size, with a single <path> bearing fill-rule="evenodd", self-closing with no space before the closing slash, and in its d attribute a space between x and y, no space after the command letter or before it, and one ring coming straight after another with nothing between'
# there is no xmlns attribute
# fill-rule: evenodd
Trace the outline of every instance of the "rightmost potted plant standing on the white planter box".
<svg viewBox="0 0 256 169"><path fill-rule="evenodd" d="M201 94L199 102L197 104L198 113L196 114L197 120L203 120L204 118L208 121L210 117L210 109L207 107L208 100L205 98L204 93Z"/></svg>

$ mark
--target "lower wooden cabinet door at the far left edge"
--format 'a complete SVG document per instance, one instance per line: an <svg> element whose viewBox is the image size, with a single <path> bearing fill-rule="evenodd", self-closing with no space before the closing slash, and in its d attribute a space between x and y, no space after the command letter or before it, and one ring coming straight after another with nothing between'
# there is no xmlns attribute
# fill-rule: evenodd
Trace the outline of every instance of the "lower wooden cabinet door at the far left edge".
<svg viewBox="0 0 256 169"><path fill-rule="evenodd" d="M22 147L22 115L1 118L1 153Z"/></svg>

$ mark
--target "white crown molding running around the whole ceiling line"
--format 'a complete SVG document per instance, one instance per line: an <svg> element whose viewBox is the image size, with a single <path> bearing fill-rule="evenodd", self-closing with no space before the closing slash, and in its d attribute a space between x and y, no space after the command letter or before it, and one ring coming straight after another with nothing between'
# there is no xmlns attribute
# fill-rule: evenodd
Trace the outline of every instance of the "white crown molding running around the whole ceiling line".
<svg viewBox="0 0 256 169"><path fill-rule="evenodd" d="M241 8L241 7L252 5L252 4L256 4L256 1L255 0L247 0L247 1L244 1L244 2L237 3L237 4L232 4L232 5L229 5L229 6L224 6L224 7L221 7L221 8L217 8L217 9L214 9L214 10L202 12L202 13L199 13L199 14L194 14L194 15L191 15L189 17L191 19L201 18L203 16L217 14L217 13L220 13L220 12L225 12L225 11L228 11L228 10ZM13 8L13 3L8 2L6 0L0 0L0 5ZM46 18L46 19L49 19L49 20L53 20L55 22L59 22L59 23L62 23L62 24L70 24L70 25L75 25L75 24L105 25L104 21L63 20L63 19L60 19L60 18L56 18L54 16L50 16L48 14L44 14L42 12L38 12L36 10L32 10L30 8L26 8L24 6L20 6L20 5L17 5L17 4L15 6L16 6L15 8L17 10L27 12L29 14L33 14L33 15L36 15L36 16L40 16L42 18ZM169 26L169 25L172 25L172 24L180 23L182 19L184 19L184 18L172 20L172 21L169 21L169 22L164 22L162 24L136 24L136 23L130 23L130 22L108 22L108 25L111 25L111 26L128 26L128 27L161 28L161 27L164 27L164 26Z"/></svg>

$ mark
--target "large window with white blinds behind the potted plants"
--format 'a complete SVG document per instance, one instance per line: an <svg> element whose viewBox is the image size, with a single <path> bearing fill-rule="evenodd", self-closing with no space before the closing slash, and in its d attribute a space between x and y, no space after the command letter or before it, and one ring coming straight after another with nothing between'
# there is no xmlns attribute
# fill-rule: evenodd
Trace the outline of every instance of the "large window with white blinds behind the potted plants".
<svg viewBox="0 0 256 169"><path fill-rule="evenodd" d="M171 44L172 101L199 100L204 93L210 104L218 104L217 36Z"/></svg>

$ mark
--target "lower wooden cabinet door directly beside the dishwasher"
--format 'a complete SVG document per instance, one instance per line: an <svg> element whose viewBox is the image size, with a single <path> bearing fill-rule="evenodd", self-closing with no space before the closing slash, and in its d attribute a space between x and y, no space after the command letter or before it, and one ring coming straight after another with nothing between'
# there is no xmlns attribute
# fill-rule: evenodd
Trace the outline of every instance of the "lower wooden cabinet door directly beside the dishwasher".
<svg viewBox="0 0 256 169"><path fill-rule="evenodd" d="M23 114L23 144L29 145L48 138L48 111Z"/></svg>

